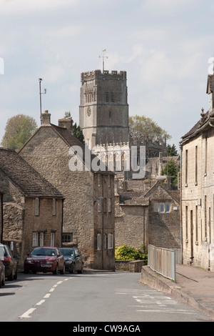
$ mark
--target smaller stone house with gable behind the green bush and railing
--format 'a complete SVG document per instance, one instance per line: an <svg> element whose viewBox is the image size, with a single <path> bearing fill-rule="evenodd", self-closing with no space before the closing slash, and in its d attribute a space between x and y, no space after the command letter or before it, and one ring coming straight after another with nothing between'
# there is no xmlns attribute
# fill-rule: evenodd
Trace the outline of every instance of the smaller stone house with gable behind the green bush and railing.
<svg viewBox="0 0 214 336"><path fill-rule="evenodd" d="M173 248L180 261L179 191L162 182L128 181L116 197L116 247L140 248L148 244Z"/></svg>

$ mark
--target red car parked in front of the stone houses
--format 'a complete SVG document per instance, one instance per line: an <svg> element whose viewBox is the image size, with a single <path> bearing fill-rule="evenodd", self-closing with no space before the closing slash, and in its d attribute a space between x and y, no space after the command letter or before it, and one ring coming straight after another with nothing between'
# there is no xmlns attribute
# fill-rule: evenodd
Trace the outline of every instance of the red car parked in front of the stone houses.
<svg viewBox="0 0 214 336"><path fill-rule="evenodd" d="M36 247L24 261L24 273L53 272L55 275L65 272L65 260L57 247Z"/></svg>

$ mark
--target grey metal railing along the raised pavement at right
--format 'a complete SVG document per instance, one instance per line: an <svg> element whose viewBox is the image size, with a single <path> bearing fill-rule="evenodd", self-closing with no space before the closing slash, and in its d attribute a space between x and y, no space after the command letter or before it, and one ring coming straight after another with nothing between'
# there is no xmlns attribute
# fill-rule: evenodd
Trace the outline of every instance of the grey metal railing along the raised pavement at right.
<svg viewBox="0 0 214 336"><path fill-rule="evenodd" d="M148 245L148 266L163 277L175 281L175 250Z"/></svg>

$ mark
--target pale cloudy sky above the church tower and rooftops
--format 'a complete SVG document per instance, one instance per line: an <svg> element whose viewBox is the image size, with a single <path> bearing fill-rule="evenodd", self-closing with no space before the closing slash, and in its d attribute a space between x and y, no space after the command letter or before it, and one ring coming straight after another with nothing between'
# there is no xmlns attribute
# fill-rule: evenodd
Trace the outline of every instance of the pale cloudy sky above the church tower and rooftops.
<svg viewBox="0 0 214 336"><path fill-rule="evenodd" d="M212 0L0 0L0 141L16 114L71 112L78 124L81 72L126 71L129 116L181 137L208 110L214 56ZM106 51L103 53L103 49Z"/></svg>

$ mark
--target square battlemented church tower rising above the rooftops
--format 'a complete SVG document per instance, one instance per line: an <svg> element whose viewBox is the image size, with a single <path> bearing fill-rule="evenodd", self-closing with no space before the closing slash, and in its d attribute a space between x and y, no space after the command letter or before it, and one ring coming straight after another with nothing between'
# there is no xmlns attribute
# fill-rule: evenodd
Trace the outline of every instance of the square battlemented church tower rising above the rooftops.
<svg viewBox="0 0 214 336"><path fill-rule="evenodd" d="M127 95L126 71L81 73L79 125L90 149L128 142Z"/></svg>

